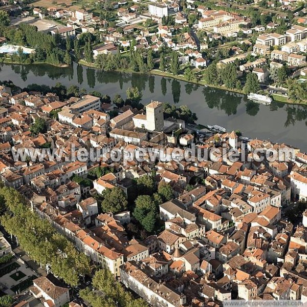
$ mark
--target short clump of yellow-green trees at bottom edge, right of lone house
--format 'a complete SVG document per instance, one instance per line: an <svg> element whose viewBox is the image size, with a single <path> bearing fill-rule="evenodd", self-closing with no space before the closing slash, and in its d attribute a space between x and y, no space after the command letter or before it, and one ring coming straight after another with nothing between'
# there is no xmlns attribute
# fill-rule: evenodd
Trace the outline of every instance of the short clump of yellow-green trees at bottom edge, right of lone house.
<svg viewBox="0 0 307 307"><path fill-rule="evenodd" d="M80 297L93 307L148 307L143 299L135 299L130 292L125 291L123 285L108 270L95 273L93 286L101 293L89 288L80 291Z"/></svg>

